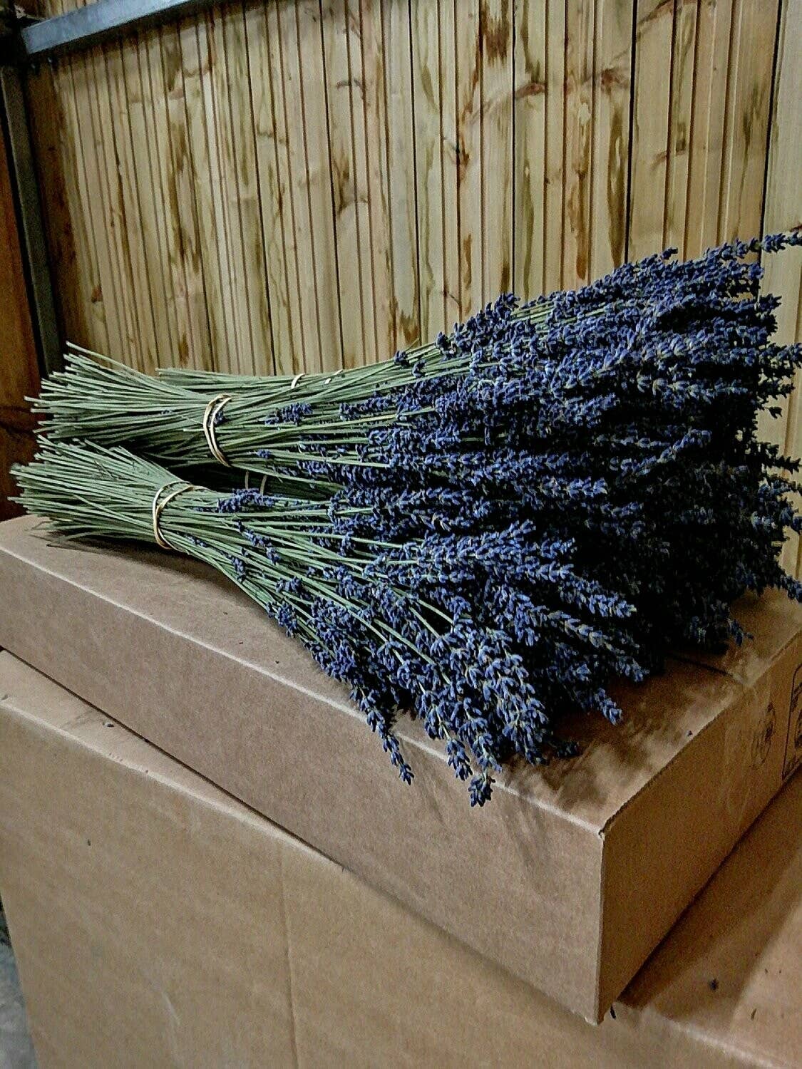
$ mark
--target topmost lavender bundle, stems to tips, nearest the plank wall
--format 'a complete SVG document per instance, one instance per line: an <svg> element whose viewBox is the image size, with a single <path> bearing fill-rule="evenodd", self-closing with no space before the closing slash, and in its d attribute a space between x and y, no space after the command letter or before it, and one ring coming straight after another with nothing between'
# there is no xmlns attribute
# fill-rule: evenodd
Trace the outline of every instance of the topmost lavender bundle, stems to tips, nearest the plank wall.
<svg viewBox="0 0 802 1069"><path fill-rule="evenodd" d="M684 263L668 250L523 307L507 294L433 344L330 375L169 370L154 378L76 350L43 384L35 407L50 417L53 439L126 445L182 468L218 461L320 478L325 464L341 482L360 475L351 467L372 469L371 479L394 467L414 477L444 456L452 472L464 465L473 472L477 453L503 449L533 418L536 444L547 422L592 425L624 383L642 404L653 394L677 409L705 390L736 396L739 384L726 373L710 377L708 363L720 347L714 362L738 372L744 342L765 346L755 331L762 334L770 309L756 300L760 268L744 257L799 241L734 243ZM710 332L734 317L740 335ZM672 350L656 362L660 345Z"/></svg>

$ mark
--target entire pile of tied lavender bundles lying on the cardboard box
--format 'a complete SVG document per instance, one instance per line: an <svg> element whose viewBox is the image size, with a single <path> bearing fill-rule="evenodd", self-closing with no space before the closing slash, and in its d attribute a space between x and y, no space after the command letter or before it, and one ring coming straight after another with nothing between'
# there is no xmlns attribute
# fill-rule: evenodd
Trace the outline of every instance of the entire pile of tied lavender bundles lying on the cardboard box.
<svg viewBox="0 0 802 1069"><path fill-rule="evenodd" d="M481 805L510 758L574 753L567 713L617 721L612 680L741 641L744 591L802 600L780 566L799 462L757 434L802 351L772 341L754 257L799 242L504 295L335 375L154 378L73 350L21 500L213 564L351 686L403 779L408 712Z"/></svg>

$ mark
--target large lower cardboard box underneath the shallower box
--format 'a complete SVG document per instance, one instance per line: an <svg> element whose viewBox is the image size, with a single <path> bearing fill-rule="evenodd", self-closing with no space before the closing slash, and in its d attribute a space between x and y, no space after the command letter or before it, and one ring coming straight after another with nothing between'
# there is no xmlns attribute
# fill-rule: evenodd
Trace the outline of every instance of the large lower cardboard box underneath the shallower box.
<svg viewBox="0 0 802 1069"><path fill-rule="evenodd" d="M7 653L0 698L42 1069L799 1064L801 776L596 1027Z"/></svg>

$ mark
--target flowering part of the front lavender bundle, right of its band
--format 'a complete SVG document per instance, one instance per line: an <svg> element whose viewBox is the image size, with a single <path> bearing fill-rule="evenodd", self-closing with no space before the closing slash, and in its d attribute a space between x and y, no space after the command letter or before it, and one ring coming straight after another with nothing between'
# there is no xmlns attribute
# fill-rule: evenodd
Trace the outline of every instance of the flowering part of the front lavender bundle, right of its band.
<svg viewBox="0 0 802 1069"><path fill-rule="evenodd" d="M556 710L617 719L602 681L643 678L624 628L632 606L575 573L570 539L544 538L529 521L380 544L343 492L265 508L237 491L206 509L242 538L237 580L351 686L405 780L400 712L445 744L472 804L483 804L511 756L540 763L574 752ZM216 562L231 573L230 551Z"/></svg>

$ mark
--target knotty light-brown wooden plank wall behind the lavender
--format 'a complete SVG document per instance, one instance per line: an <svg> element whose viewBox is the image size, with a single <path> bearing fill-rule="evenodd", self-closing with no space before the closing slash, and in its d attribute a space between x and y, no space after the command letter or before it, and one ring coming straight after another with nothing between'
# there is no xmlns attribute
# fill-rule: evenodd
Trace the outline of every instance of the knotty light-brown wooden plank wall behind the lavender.
<svg viewBox="0 0 802 1069"><path fill-rule="evenodd" d="M41 15L76 0L38 0ZM30 80L65 336L352 367L800 222L802 0L240 0ZM799 324L799 257L770 283ZM769 429L800 450L797 402Z"/></svg>

